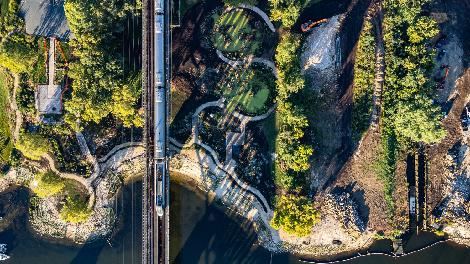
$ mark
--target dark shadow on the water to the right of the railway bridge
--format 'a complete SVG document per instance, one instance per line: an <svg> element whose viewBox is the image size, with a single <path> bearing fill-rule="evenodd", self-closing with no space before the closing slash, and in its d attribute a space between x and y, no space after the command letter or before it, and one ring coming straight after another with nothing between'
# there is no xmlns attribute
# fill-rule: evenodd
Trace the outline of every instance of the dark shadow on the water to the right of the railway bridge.
<svg viewBox="0 0 470 264"><path fill-rule="evenodd" d="M271 252L259 246L250 220L241 220L235 212L224 210L222 206L222 209L216 208L208 199L204 203L204 215L175 256L173 264L270 262ZM279 257L285 258L284 263L288 262L288 256L276 256L276 259L280 260Z"/></svg>

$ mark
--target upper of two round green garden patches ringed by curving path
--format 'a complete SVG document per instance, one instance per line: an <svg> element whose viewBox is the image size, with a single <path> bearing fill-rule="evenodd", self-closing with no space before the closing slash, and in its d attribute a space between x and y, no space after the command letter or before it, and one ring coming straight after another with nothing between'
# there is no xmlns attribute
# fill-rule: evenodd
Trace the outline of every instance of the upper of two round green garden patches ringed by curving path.
<svg viewBox="0 0 470 264"><path fill-rule="evenodd" d="M227 31L227 38L231 39L230 45L227 47L224 43L224 38L226 35L221 35L219 32L215 33L215 41L217 42L217 47L221 51L235 52L240 51L244 46L250 46L250 52L253 53L259 45L259 42L256 39L261 38L261 34L253 30L248 23L248 20L244 16L243 11L235 11L230 14L222 14L222 21L219 23L219 27L233 25L234 27ZM213 16L214 20L217 22L220 16ZM240 34L254 34L255 37L251 38L250 41L246 41L244 38L239 39Z"/></svg>

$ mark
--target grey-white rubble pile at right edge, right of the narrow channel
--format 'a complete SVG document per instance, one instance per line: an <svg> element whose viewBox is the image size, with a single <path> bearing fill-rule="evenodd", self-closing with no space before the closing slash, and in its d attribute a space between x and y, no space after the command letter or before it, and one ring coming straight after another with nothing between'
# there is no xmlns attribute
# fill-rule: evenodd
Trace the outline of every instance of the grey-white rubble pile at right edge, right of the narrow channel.
<svg viewBox="0 0 470 264"><path fill-rule="evenodd" d="M444 167L446 177L444 178L442 196L444 198L443 208L446 208L446 218L454 223L468 222L469 206L469 184L470 180L466 173L466 168L461 170L457 157L452 153L446 156L446 166ZM470 211L470 210L469 210Z"/></svg>

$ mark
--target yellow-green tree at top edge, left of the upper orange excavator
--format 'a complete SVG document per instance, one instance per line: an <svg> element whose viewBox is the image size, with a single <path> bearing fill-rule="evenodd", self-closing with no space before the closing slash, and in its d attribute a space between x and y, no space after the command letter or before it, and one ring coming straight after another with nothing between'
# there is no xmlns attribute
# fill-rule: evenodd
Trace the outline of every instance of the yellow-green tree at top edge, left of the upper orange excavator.
<svg viewBox="0 0 470 264"><path fill-rule="evenodd" d="M270 20L281 21L284 27L290 27L297 22L301 8L297 0L274 0L269 1L269 4L271 6Z"/></svg>

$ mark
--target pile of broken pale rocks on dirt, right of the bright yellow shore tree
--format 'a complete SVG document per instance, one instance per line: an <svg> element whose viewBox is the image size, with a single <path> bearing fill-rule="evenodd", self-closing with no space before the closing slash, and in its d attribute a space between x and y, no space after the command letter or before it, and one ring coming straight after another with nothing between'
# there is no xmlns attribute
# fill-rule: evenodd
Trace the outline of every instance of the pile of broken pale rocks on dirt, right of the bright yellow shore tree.
<svg viewBox="0 0 470 264"><path fill-rule="evenodd" d="M348 193L333 194L325 196L322 211L340 221L346 233L351 235L352 239L357 237L358 233L364 232L366 225L357 212L357 204Z"/></svg>

